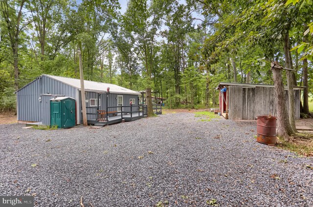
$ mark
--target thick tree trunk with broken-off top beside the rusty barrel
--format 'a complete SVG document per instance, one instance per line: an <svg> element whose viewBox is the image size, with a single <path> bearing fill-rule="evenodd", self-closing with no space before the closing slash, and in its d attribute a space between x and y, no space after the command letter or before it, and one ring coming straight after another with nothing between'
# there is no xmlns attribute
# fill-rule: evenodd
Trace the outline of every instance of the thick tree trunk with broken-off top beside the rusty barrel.
<svg viewBox="0 0 313 207"><path fill-rule="evenodd" d="M276 65L278 65L278 63L276 63ZM282 71L281 69L272 67L272 73L274 80L274 95L277 105L277 136L288 141L289 136L293 134L293 131L288 118Z"/></svg>

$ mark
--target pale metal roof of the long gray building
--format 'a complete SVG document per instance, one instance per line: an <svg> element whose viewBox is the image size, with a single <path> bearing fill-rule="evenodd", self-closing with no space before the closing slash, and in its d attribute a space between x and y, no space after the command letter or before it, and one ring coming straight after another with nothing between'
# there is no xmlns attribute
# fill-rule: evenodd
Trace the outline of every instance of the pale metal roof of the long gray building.
<svg viewBox="0 0 313 207"><path fill-rule="evenodd" d="M43 74L43 75L39 76L38 78L41 78L42 76L46 76L48 78L57 80L59 82L73 86L73 87L80 90L80 79L46 75L46 74ZM38 78L36 78L35 80L37 80ZM34 81L32 81L32 82L34 82ZM30 83L32 83L32 82L30 82ZM26 84L24 87L26 87L30 83ZM22 88L24 88L24 87L22 87ZM130 89L127 89L127 88L124 88L124 87L121 87L121 86L118 86L115 84L110 84L110 83L100 83L100 82L84 80L84 87L85 87L85 91L98 92L98 93L107 92L107 88L110 87L110 93L136 94L136 95L140 94L136 91L133 91L133 90L130 90ZM22 88L20 88L19 90L21 90ZM18 92L19 90L17 90L16 92Z"/></svg>

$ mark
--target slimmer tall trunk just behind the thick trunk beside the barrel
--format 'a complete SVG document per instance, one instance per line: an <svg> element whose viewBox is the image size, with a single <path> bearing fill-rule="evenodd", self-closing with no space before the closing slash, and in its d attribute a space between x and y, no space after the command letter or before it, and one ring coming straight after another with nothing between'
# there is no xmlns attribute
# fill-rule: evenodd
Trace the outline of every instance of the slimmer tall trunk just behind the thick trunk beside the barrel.
<svg viewBox="0 0 313 207"><path fill-rule="evenodd" d="M284 52L285 52L286 68L293 69L292 60L291 60L291 52L290 52L289 33L285 35ZM287 85L288 85L289 122L290 122L292 131L297 132L295 128L295 104L294 104L293 86L296 83L294 83L294 79L295 77L294 77L293 71L288 70L287 71Z"/></svg>

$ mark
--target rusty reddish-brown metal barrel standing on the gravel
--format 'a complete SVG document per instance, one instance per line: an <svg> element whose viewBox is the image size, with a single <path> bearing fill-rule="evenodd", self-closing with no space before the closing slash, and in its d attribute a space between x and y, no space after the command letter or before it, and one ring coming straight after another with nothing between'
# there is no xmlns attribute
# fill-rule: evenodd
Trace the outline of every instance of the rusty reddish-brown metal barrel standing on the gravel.
<svg viewBox="0 0 313 207"><path fill-rule="evenodd" d="M258 116L256 141L266 145L276 144L276 117Z"/></svg>

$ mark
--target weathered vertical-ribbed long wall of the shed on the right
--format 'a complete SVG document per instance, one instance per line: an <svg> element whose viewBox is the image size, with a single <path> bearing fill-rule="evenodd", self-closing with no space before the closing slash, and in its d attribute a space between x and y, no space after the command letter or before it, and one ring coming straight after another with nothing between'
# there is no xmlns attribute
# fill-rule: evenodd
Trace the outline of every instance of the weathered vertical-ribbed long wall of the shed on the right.
<svg viewBox="0 0 313 207"><path fill-rule="evenodd" d="M230 85L228 90L229 119L254 120L261 115L271 114L276 116L277 105L274 99L274 88ZM295 119L300 118L300 93L301 90L294 90ZM289 110L288 90L285 90L285 97Z"/></svg>

